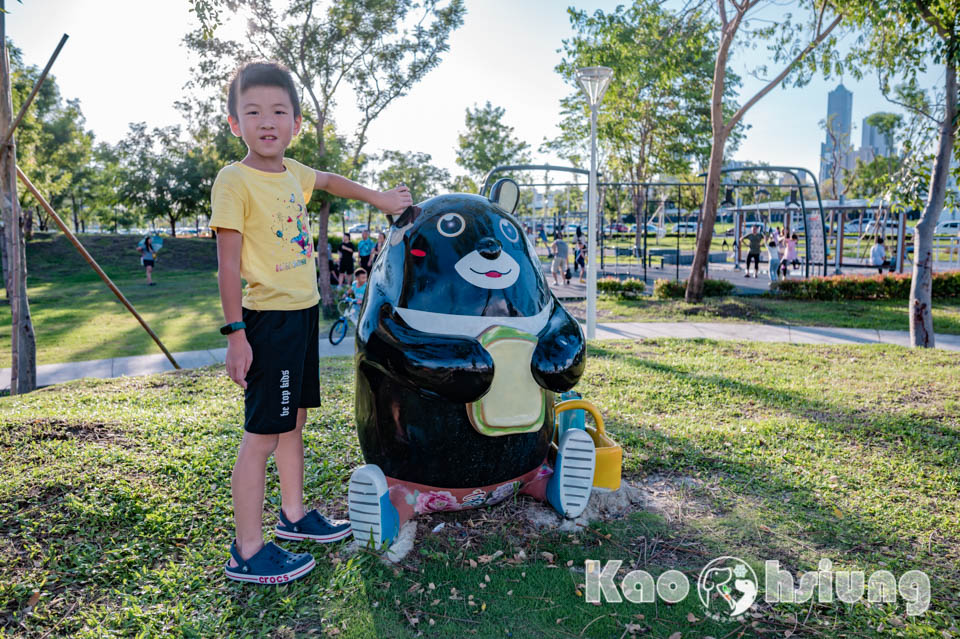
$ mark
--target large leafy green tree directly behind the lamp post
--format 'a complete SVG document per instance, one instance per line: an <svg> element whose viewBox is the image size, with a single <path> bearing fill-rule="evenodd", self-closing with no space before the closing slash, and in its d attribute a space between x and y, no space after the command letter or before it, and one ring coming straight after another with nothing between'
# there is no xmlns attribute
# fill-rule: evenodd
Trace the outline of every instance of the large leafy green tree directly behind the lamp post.
<svg viewBox="0 0 960 639"><path fill-rule="evenodd" d="M634 0L612 13L569 9L576 35L563 42L564 59L556 70L575 86L561 101L562 134L546 146L575 165L589 156L589 108L576 87L581 67L613 69L597 122L601 172L646 182L654 175L675 175L706 164L710 153L710 101L716 38L702 9L673 13L656 0ZM739 78L727 71L722 108L729 117ZM731 129L728 148L736 149L742 127ZM633 210L641 211L646 191L631 190ZM643 229L637 227L636 243Z"/></svg>

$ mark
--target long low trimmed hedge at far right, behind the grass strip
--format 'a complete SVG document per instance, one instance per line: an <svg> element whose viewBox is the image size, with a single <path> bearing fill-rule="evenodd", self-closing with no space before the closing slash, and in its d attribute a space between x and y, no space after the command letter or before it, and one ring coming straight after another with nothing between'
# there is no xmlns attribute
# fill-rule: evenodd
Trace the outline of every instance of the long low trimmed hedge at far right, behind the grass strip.
<svg viewBox="0 0 960 639"><path fill-rule="evenodd" d="M770 290L798 300L906 300L910 297L909 273L855 275L777 280ZM960 271L933 274L934 298L960 297Z"/></svg>

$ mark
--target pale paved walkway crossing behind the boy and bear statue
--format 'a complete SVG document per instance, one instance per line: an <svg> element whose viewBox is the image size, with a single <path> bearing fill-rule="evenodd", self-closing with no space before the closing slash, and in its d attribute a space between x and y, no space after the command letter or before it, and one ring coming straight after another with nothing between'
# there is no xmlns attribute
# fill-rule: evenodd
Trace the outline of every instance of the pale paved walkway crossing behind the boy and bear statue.
<svg viewBox="0 0 960 639"><path fill-rule="evenodd" d="M655 339L666 337L744 340L755 342L787 342L791 344L898 344L909 345L906 331L880 331L863 328L829 328L814 326L775 326L732 322L611 322L597 325L597 339ZM960 335L936 336L937 348L960 352ZM198 368L222 364L227 349L174 353L182 368ZM326 339L320 341L320 356L352 355L353 338L338 346ZM50 386L81 377L121 377L147 375L173 370L163 354L136 357L115 357L87 362L47 364L37 367L37 384ZM0 369L0 390L10 388L10 369Z"/></svg>

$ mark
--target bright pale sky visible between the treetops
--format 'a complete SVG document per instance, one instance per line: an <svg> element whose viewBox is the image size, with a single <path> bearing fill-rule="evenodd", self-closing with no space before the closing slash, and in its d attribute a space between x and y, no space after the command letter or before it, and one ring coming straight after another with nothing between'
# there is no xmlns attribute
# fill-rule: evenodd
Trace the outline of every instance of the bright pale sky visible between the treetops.
<svg viewBox="0 0 960 639"><path fill-rule="evenodd" d="M562 40L572 35L566 7L612 11L623 2L467 0L464 25L452 34L443 62L374 122L367 151L426 152L451 174L462 174L455 147L465 110L489 100L505 109L505 123L531 145L535 161L559 162L537 148L558 134L559 101L574 90L554 71ZM131 122L183 123L173 105L195 62L182 44L196 27L187 0L11 0L6 6L7 35L27 64L42 67L61 35L69 34L52 73L65 97L80 99L98 140L117 142ZM241 28L227 25L224 33ZM762 86L747 75L758 53L732 60L745 78L745 96ZM898 109L884 100L875 76L842 81L853 92L851 142L859 146L865 116ZM838 83L818 78L802 89L774 89L747 113L750 128L734 159L799 165L817 174L824 138L818 122L826 117L827 92ZM338 130L352 130L351 93L340 99L335 118Z"/></svg>

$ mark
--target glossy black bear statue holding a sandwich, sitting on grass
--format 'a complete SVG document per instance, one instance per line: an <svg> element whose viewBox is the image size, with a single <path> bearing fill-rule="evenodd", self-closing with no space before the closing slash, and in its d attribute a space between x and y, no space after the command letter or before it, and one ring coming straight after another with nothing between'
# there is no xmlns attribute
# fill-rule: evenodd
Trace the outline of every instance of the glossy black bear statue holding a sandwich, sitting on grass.
<svg viewBox="0 0 960 639"><path fill-rule="evenodd" d="M586 344L523 227L519 189L451 194L392 221L356 336L356 422L366 461L350 478L354 537L377 547L416 514L515 494L579 515L594 443L571 429L547 463L554 394L583 374Z"/></svg>

